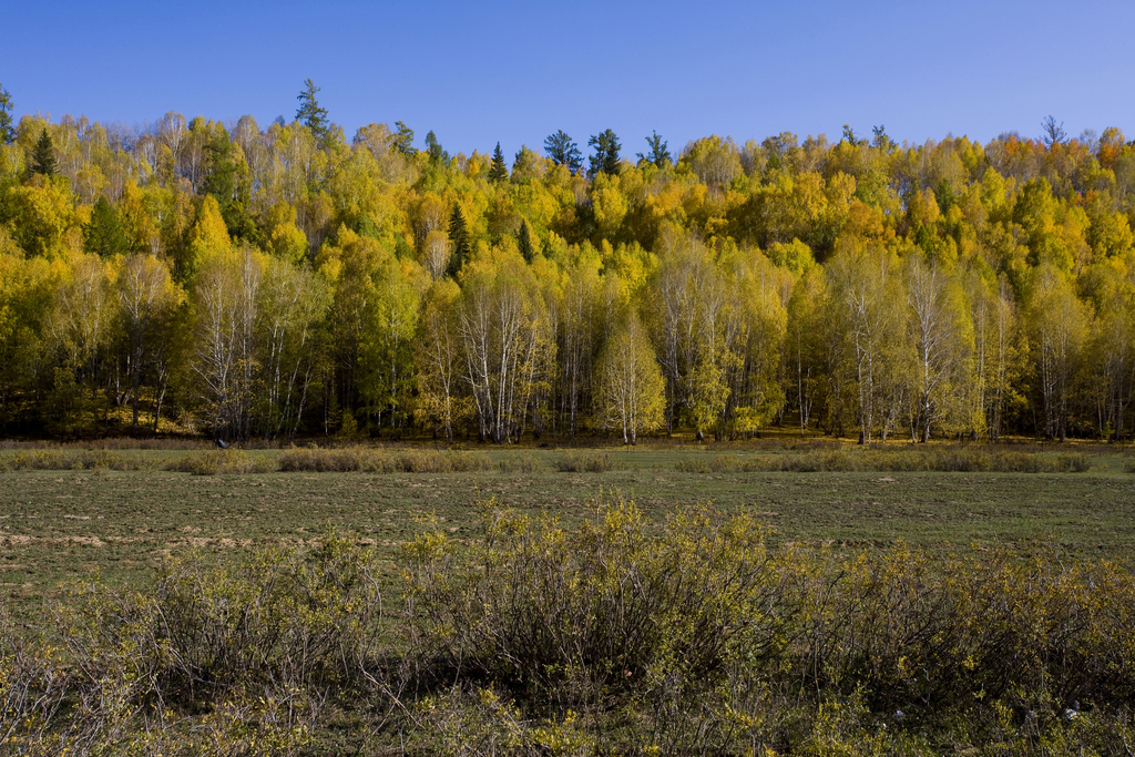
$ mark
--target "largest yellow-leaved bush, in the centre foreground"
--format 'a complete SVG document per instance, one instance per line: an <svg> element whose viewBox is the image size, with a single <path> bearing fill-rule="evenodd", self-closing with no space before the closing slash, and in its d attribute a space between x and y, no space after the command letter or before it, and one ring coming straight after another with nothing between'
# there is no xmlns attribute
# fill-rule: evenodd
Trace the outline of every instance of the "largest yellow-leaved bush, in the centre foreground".
<svg viewBox="0 0 1135 757"><path fill-rule="evenodd" d="M471 552L440 530L406 548L413 633L447 665L570 703L644 680L697 688L732 649L775 647L775 619L750 612L776 584L766 531L746 516L697 507L658 538L622 501L575 531L496 501L481 516Z"/></svg>

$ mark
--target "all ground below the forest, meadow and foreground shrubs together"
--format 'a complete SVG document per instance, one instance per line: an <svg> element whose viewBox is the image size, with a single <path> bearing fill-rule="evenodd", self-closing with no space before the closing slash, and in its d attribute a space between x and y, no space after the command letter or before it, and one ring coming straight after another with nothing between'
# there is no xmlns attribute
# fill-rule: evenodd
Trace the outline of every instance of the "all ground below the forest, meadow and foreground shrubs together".
<svg viewBox="0 0 1135 757"><path fill-rule="evenodd" d="M8 444L0 754L1130 754L1132 461Z"/></svg>

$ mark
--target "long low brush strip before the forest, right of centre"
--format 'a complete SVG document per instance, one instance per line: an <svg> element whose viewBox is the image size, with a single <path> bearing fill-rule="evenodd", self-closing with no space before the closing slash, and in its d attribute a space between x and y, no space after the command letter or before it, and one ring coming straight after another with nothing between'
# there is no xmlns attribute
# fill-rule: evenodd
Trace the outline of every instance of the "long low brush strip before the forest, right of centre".
<svg viewBox="0 0 1135 757"><path fill-rule="evenodd" d="M1091 470L1092 463L1083 453L1052 455L944 447L900 451L838 449L747 457L713 455L679 460L674 463L674 468L687 473L772 471L1082 473Z"/></svg>

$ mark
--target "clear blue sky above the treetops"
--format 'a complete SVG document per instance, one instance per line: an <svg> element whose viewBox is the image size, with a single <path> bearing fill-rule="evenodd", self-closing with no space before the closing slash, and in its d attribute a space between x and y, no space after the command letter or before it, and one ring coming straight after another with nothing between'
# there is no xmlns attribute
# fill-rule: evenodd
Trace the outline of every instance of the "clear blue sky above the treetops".
<svg viewBox="0 0 1135 757"><path fill-rule="evenodd" d="M1135 2L215 2L0 0L16 116L145 123L175 110L262 127L306 77L350 138L405 121L452 153L605 128L739 142L844 123L948 133L1135 137ZM588 152L585 149L585 152Z"/></svg>

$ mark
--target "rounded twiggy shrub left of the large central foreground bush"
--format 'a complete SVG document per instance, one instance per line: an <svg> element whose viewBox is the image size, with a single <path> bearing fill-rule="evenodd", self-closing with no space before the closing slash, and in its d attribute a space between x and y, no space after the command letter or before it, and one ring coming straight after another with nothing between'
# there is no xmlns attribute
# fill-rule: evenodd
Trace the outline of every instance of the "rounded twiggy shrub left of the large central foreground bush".
<svg viewBox="0 0 1135 757"><path fill-rule="evenodd" d="M170 563L154 592L185 685L311 685L356 673L369 654L380 605L368 550L333 536L202 563Z"/></svg>

